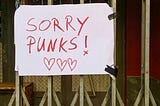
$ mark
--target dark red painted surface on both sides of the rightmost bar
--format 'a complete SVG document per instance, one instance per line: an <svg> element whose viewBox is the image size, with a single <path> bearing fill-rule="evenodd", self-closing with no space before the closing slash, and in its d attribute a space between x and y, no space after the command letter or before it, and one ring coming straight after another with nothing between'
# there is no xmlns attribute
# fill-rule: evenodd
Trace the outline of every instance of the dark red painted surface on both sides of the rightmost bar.
<svg viewBox="0 0 160 106"><path fill-rule="evenodd" d="M150 76L160 80L160 0L151 0ZM141 73L141 0L126 1L126 75Z"/></svg>

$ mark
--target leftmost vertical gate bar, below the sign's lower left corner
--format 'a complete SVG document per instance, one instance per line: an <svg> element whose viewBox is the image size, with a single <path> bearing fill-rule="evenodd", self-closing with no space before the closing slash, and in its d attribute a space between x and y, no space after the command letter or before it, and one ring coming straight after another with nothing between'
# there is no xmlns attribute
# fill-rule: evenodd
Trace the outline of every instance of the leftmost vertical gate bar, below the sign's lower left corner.
<svg viewBox="0 0 160 106"><path fill-rule="evenodd" d="M21 96L21 77L16 71L16 106L22 105L22 96Z"/></svg>

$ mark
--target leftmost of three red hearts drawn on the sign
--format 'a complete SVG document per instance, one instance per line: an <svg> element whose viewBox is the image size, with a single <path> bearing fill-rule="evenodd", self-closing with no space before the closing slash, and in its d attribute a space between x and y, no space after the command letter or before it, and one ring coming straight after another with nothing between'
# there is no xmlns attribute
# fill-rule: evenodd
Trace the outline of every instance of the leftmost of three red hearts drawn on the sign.
<svg viewBox="0 0 160 106"><path fill-rule="evenodd" d="M50 71L52 66L54 65L55 63L55 58L50 58L50 59L47 59L46 57L43 58L43 62L45 64L45 66L47 67L47 69Z"/></svg>

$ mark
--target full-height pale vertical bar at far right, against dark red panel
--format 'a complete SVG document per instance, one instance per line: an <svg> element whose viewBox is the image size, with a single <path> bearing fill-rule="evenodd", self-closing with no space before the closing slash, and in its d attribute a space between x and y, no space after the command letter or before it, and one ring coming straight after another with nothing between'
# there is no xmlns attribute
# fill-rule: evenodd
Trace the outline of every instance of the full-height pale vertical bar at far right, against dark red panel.
<svg viewBox="0 0 160 106"><path fill-rule="evenodd" d="M149 106L150 0L145 0L145 106Z"/></svg>

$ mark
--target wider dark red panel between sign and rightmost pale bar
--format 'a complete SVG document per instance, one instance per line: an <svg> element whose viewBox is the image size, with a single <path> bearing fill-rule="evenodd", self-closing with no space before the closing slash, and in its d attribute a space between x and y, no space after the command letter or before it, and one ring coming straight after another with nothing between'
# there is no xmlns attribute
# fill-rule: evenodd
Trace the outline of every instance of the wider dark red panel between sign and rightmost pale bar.
<svg viewBox="0 0 160 106"><path fill-rule="evenodd" d="M141 71L141 2L126 0L126 75Z"/></svg>

